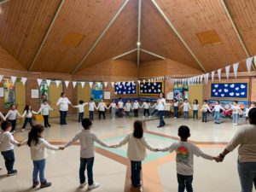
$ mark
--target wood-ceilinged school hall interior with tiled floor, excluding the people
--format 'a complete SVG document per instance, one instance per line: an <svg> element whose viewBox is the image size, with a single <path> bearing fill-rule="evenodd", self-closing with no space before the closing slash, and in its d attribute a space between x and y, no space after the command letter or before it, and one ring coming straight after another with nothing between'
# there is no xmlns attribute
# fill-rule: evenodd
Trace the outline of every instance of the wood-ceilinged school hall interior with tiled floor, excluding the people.
<svg viewBox="0 0 256 192"><path fill-rule="evenodd" d="M133 131L135 120L143 122L144 137L156 148L166 148L180 140L177 130L187 125L194 143L204 153L217 156L238 129L247 125L247 110L256 102L256 1L255 0L0 0L0 112L3 117L15 104L22 115L26 105L38 112L47 100L50 127L44 138L61 147L83 126L80 101L107 107L122 98L131 102L126 113L115 118L105 109L99 119L94 108L92 131L103 142L119 143ZM60 125L56 103L65 92L73 106L67 111L67 125ZM160 93L166 103L166 125L158 128L155 105ZM178 102L177 116L173 99ZM183 102L188 100L189 119L184 119ZM149 115L135 101L149 105ZM198 118L193 104L198 101ZM207 123L201 108L207 100ZM216 123L214 103L225 109ZM233 102L241 109L233 121ZM145 105L145 104L144 104ZM147 108L146 108L147 109ZM152 114L156 109L156 113ZM89 105L84 105L84 118ZM33 124L44 125L43 115L33 114ZM31 125L21 130L25 118L16 119L13 136L25 141ZM1 123L3 119L1 119ZM2 130L3 131L3 130ZM45 177L52 185L40 191L87 191L79 185L79 142L64 150L47 150ZM127 145L105 148L95 144L94 180L98 192L177 191L176 153L147 149L143 160L142 185L131 185L131 165ZM30 148L15 147L15 170L7 177L0 158L0 191L26 192L32 189L33 162ZM239 192L236 168L237 149L217 163L194 159L195 191ZM85 174L86 178L87 175ZM254 189L255 191L255 189Z"/></svg>

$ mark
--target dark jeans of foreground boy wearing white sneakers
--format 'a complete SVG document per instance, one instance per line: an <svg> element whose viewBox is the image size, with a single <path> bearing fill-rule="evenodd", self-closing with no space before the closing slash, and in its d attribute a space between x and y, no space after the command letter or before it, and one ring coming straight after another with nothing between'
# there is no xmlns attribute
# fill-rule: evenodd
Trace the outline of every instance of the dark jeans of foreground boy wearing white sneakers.
<svg viewBox="0 0 256 192"><path fill-rule="evenodd" d="M85 182L84 172L85 172L85 168L87 168L88 184L89 185L93 184L93 172L92 172L93 162L94 162L94 157L91 157L88 159L80 158L80 169L79 169L80 183Z"/></svg>

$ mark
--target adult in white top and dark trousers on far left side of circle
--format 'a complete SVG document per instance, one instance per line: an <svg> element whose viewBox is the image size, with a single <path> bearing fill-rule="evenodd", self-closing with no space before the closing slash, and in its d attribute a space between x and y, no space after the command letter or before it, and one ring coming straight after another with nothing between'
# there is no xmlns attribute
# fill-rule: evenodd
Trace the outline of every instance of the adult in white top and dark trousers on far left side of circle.
<svg viewBox="0 0 256 192"><path fill-rule="evenodd" d="M61 125L67 125L66 117L67 117L67 111L68 111L68 104L73 106L73 104L67 98L66 94L62 92L61 97L56 103L57 106L60 106Z"/></svg>

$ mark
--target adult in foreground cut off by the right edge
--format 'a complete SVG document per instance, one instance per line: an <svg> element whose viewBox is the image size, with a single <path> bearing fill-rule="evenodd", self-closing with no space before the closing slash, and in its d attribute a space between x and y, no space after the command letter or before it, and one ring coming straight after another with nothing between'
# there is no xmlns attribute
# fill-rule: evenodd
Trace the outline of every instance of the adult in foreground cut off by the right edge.
<svg viewBox="0 0 256 192"><path fill-rule="evenodd" d="M253 183L256 189L256 108L252 108L249 111L248 119L250 125L241 127L224 151L218 156L219 160L223 161L225 155L239 145L237 168L241 192L252 192Z"/></svg>

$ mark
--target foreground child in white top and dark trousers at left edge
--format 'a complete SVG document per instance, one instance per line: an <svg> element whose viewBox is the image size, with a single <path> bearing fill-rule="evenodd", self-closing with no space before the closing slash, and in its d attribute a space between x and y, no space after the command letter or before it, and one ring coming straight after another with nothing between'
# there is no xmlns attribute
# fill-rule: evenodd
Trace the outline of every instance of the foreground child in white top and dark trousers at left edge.
<svg viewBox="0 0 256 192"><path fill-rule="evenodd" d="M15 152L14 148L16 146L20 147L20 143L15 141L15 138L10 133L12 125L9 121L3 121L1 128L3 131L0 133L0 150L5 160L5 167L7 169L7 175L13 176L18 172L14 170L15 165Z"/></svg>

